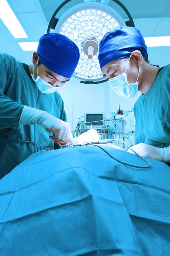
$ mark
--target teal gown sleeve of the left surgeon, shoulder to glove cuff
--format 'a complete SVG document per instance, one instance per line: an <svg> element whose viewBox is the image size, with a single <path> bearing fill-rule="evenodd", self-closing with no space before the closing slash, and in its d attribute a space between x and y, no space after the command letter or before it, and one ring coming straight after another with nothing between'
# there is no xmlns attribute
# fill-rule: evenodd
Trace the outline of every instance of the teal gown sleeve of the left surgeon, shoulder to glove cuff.
<svg viewBox="0 0 170 256"><path fill-rule="evenodd" d="M10 86L11 79L14 79L13 57L0 54L0 129L16 128L19 125L24 105L13 101L4 94Z"/></svg>

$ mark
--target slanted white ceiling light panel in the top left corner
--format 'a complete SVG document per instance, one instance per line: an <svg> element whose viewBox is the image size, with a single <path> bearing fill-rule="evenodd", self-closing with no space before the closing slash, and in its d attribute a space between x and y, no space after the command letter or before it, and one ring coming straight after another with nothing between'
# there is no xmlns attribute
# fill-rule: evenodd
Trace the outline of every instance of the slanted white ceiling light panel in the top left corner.
<svg viewBox="0 0 170 256"><path fill-rule="evenodd" d="M9 29L14 38L28 38L6 0L0 0L0 19Z"/></svg>

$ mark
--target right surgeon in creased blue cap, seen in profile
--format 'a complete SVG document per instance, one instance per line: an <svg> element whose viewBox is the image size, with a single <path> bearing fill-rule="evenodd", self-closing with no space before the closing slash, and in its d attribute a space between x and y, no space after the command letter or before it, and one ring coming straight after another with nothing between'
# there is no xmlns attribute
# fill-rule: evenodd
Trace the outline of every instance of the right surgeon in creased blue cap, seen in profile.
<svg viewBox="0 0 170 256"><path fill-rule="evenodd" d="M116 27L100 42L100 67L110 87L124 98L141 96L134 105L138 154L170 162L170 64L148 61L143 36L134 27Z"/></svg>

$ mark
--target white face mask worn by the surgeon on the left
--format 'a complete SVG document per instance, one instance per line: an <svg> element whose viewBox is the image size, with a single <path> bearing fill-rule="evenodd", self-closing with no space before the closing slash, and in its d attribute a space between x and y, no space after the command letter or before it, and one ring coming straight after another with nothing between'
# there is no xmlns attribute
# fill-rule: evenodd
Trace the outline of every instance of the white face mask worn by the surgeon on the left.
<svg viewBox="0 0 170 256"><path fill-rule="evenodd" d="M39 60L39 57L38 57L38 60ZM38 64L38 60L37 60L37 64ZM52 86L51 84L49 84L48 82L40 78L40 76L38 76L38 65L37 65L37 79L35 79L34 68L35 66L33 67L33 75L31 74L31 76L32 76L32 79L35 81L35 85L37 89L40 90L41 93L46 93L46 94L55 93L58 90L58 88L60 88L60 87Z"/></svg>

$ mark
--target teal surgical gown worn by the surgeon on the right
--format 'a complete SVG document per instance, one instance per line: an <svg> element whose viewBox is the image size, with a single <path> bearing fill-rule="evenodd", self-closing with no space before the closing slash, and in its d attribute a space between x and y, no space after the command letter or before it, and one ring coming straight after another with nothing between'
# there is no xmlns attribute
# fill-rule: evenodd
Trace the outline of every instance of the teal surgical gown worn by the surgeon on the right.
<svg viewBox="0 0 170 256"><path fill-rule="evenodd" d="M135 144L170 146L170 64L156 76L148 92L134 106Z"/></svg>

